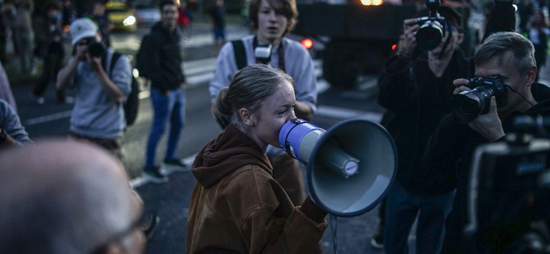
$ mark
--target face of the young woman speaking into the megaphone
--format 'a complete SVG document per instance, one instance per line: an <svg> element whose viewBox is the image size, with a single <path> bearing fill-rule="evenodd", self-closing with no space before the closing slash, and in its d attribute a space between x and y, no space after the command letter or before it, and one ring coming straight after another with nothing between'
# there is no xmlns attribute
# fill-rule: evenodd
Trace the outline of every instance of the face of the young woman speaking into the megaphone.
<svg viewBox="0 0 550 254"><path fill-rule="evenodd" d="M267 144L279 147L278 135L281 127L289 120L296 118L294 102L296 102L294 87L285 80L254 113L255 124L252 126L252 135L261 141L261 147L267 147Z"/></svg>

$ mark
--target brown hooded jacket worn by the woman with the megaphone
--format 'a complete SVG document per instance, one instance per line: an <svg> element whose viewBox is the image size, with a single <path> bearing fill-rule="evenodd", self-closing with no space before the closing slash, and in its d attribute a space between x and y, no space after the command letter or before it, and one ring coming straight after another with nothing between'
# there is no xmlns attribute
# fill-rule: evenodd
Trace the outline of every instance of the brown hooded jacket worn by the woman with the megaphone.
<svg viewBox="0 0 550 254"><path fill-rule="evenodd" d="M309 196L294 207L260 146L234 124L195 157L186 253L311 253L327 221Z"/></svg>

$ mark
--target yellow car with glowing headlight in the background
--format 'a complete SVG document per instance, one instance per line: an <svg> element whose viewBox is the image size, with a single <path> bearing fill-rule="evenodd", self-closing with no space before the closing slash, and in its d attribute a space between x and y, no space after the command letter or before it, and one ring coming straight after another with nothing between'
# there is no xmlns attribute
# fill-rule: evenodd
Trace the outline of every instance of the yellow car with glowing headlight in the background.
<svg viewBox="0 0 550 254"><path fill-rule="evenodd" d="M104 8L107 19L113 24L111 31L132 32L137 28L134 11L125 3L108 1Z"/></svg>

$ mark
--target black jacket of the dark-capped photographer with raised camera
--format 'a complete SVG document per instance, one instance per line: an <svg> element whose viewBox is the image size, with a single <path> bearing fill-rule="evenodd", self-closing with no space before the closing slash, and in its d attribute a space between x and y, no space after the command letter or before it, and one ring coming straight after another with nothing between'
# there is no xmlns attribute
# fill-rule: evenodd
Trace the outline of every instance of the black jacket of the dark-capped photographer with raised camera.
<svg viewBox="0 0 550 254"><path fill-rule="evenodd" d="M452 81L470 76L470 61L456 49L443 76L437 78L427 58L421 54L411 62L391 57L380 77L378 102L388 109L382 124L397 146L397 181L412 194L441 195L455 187L453 165L425 168L421 159L430 135L450 113Z"/></svg>

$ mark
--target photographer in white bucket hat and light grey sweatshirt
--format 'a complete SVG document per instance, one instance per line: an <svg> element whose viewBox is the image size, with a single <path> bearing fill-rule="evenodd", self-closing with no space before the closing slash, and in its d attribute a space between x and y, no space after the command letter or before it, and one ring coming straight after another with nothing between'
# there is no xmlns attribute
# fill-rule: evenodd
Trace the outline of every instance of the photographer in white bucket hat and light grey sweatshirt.
<svg viewBox="0 0 550 254"><path fill-rule="evenodd" d="M122 159L123 102L131 91L130 62L124 55L111 62L115 51L104 47L91 19L76 19L69 33L74 56L56 83L58 90L76 89L69 137L97 143Z"/></svg>

